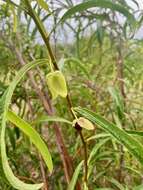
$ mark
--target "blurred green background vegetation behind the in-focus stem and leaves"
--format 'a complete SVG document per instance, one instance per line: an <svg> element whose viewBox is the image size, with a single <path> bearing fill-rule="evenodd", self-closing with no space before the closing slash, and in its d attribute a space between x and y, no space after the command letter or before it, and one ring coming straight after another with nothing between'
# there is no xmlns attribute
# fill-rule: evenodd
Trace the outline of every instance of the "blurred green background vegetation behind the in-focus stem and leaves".
<svg viewBox="0 0 143 190"><path fill-rule="evenodd" d="M117 11L92 8L72 15L59 24L73 0L48 0L49 11L32 1L46 30L60 70L68 83L74 107L86 107L125 130L143 130L143 10L138 0L112 0L126 8L135 23ZM16 5L15 5L16 3ZM24 1L1 1L0 4L0 97L23 64L47 58L48 52L37 26L21 7ZM53 122L35 122L47 113L39 91L51 102L58 117L72 121L65 99L51 101L45 76L47 65L36 67L17 86L11 108L41 134L51 152L54 170L49 174L41 156L30 140L12 124L7 125L6 142L9 163L15 175L35 183L46 177L50 190L67 189L62 161L56 144ZM2 101L2 100L1 100ZM83 159L82 143L76 131L60 123L60 131L74 168ZM126 148L105 131L83 130L90 161L89 189L133 189L143 182L143 167ZM143 138L135 136L141 143ZM43 175L43 170L44 174ZM79 180L82 179L82 172ZM0 168L0 189L13 190ZM137 188L136 188L137 189ZM139 188L138 188L139 189ZM140 189L143 189L141 187Z"/></svg>

